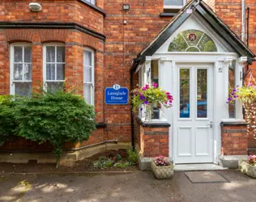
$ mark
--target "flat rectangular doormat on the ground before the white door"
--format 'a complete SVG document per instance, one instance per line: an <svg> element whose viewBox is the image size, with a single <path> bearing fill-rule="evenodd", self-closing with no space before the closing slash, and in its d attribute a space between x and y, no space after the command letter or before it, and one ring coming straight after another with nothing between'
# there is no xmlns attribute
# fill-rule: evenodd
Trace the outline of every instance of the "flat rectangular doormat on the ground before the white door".
<svg viewBox="0 0 256 202"><path fill-rule="evenodd" d="M223 175L216 171L184 172L191 183L230 183Z"/></svg>

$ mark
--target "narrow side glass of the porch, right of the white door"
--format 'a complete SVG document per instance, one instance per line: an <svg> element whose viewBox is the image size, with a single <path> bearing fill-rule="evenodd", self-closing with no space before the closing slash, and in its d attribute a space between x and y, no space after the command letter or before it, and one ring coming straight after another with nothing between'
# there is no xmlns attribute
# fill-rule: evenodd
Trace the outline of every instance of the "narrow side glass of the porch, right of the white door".
<svg viewBox="0 0 256 202"><path fill-rule="evenodd" d="M233 89L236 86L235 69L236 61L232 61L232 65L228 68L228 95L233 93ZM228 103L228 114L229 118L236 117L236 103Z"/></svg>

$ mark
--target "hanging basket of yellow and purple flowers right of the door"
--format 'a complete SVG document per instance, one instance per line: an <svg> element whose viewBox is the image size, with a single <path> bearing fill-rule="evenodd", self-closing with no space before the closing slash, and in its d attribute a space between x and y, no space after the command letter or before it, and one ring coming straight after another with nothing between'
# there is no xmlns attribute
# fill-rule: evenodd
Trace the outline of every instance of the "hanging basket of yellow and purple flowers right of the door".
<svg viewBox="0 0 256 202"><path fill-rule="evenodd" d="M236 86L227 103L234 103L236 100L241 100L245 107L245 120L247 121L247 134L250 133L250 128L253 130L254 138L256 138L256 86L248 83L247 86Z"/></svg>

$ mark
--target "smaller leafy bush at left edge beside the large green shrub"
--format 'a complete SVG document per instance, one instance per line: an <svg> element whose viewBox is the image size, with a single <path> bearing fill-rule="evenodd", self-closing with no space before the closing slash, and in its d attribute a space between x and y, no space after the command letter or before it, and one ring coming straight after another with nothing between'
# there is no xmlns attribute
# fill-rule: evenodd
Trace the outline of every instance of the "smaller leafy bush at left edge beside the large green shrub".
<svg viewBox="0 0 256 202"><path fill-rule="evenodd" d="M11 136L16 128L15 102L8 95L0 95L0 145Z"/></svg>

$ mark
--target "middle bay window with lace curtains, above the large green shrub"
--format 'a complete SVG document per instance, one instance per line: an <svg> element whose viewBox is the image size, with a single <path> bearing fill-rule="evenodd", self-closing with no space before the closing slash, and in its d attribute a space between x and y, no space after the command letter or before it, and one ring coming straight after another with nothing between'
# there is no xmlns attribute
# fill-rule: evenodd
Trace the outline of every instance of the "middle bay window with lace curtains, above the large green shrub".
<svg viewBox="0 0 256 202"><path fill-rule="evenodd" d="M44 86L47 90L63 90L65 82L65 45L45 44L44 46Z"/></svg>

